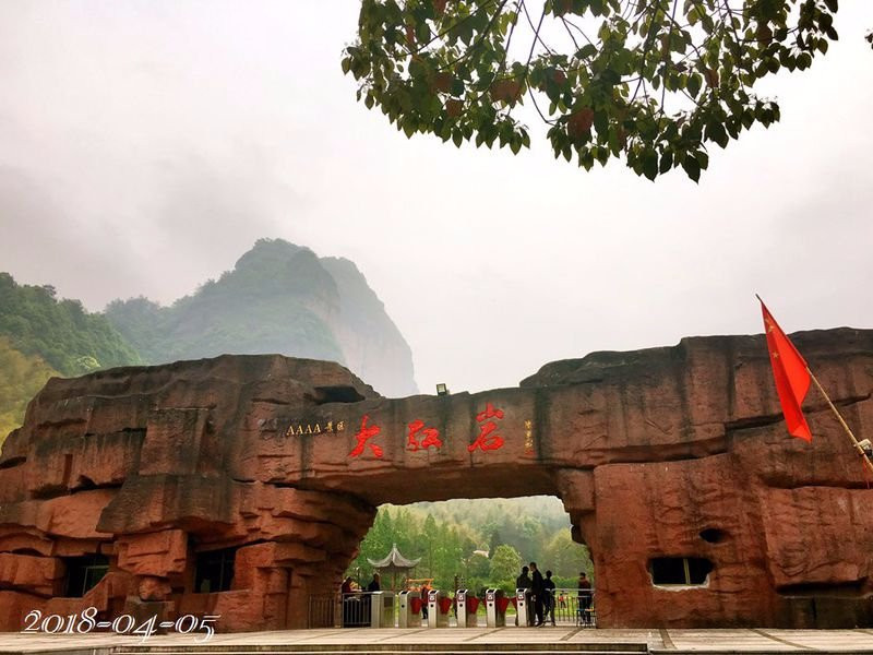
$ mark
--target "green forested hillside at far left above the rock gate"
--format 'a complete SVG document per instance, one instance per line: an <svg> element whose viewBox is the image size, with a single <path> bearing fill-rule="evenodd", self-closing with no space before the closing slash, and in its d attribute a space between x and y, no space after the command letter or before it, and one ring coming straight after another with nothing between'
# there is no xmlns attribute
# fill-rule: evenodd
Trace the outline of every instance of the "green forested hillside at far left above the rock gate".
<svg viewBox="0 0 873 655"><path fill-rule="evenodd" d="M0 273L0 442L21 425L29 400L51 376L140 364L105 317L55 288L15 283Z"/></svg>

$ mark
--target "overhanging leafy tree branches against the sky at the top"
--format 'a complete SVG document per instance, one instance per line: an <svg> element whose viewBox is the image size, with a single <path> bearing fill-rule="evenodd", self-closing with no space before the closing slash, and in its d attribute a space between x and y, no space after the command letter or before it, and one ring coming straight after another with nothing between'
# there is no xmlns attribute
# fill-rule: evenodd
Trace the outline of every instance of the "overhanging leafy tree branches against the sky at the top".
<svg viewBox="0 0 873 655"><path fill-rule="evenodd" d="M827 52L837 2L363 0L343 70L407 136L518 153L527 98L555 157L697 181L710 144L779 120L754 86Z"/></svg>

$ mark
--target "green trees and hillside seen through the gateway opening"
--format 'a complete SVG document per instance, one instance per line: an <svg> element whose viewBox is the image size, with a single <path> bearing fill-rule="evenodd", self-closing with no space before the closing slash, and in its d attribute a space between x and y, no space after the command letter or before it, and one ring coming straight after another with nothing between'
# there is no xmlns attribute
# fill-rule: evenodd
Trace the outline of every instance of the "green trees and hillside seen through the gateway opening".
<svg viewBox="0 0 873 655"><path fill-rule="evenodd" d="M558 586L574 587L579 571L593 573L587 548L573 541L570 517L552 497L382 505L348 575L366 585L372 575L368 558L385 557L393 544L404 556L421 558L415 577L433 577L443 590L457 576L477 593L492 585L511 592L522 564L530 561L551 570Z"/></svg>

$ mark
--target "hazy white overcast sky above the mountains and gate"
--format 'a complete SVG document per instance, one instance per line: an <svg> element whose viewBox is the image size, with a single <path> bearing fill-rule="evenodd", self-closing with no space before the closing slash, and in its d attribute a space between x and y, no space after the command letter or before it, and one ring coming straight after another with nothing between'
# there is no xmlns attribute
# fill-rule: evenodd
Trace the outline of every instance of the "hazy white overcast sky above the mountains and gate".
<svg viewBox="0 0 873 655"><path fill-rule="evenodd" d="M873 2L699 186L408 141L340 72L358 7L4 0L0 271L170 302L282 237L358 264L428 393L760 332L755 291L789 332L873 327Z"/></svg>

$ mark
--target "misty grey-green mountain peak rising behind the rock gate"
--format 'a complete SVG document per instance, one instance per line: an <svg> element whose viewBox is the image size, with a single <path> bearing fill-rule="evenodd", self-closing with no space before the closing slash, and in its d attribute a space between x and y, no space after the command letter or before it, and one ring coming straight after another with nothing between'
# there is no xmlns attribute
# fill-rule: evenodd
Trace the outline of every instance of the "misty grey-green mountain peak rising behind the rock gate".
<svg viewBox="0 0 873 655"><path fill-rule="evenodd" d="M106 313L150 364L275 353L337 361L385 395L418 391L409 346L357 265L284 239L259 239L170 307L140 298Z"/></svg>

